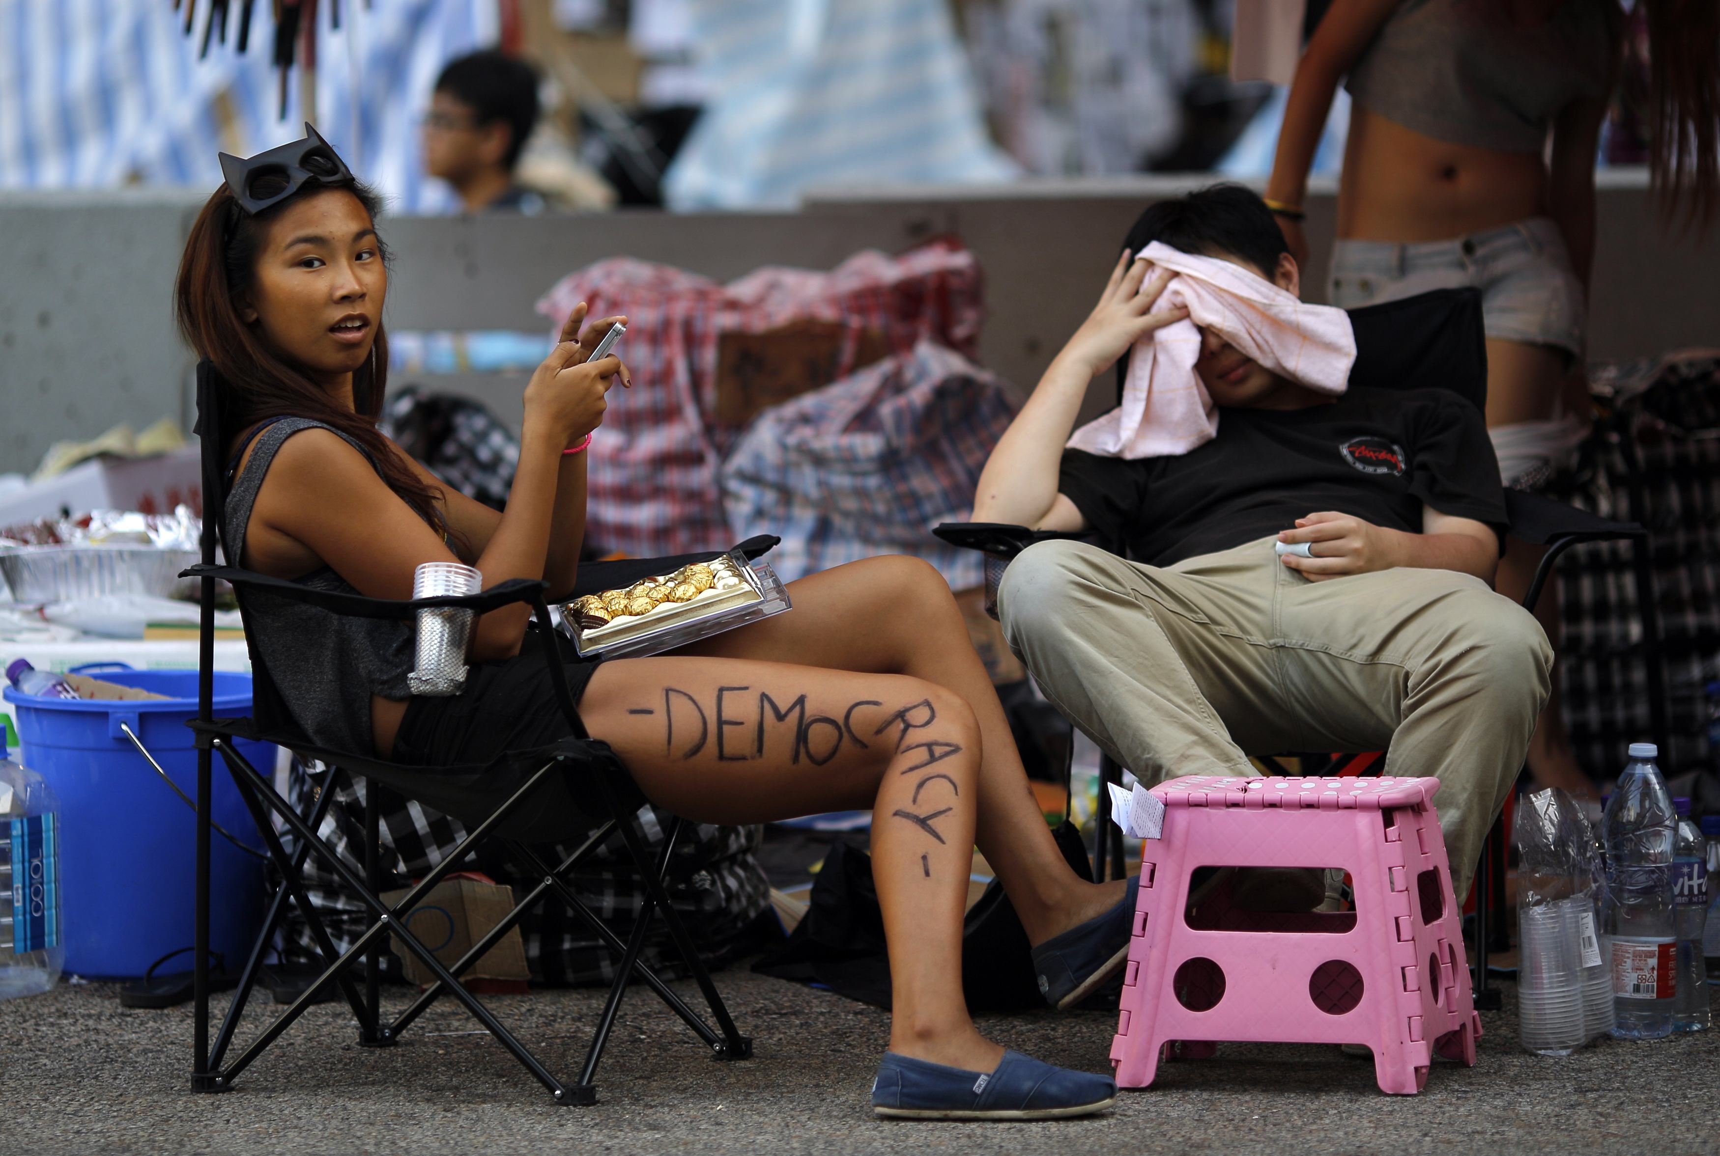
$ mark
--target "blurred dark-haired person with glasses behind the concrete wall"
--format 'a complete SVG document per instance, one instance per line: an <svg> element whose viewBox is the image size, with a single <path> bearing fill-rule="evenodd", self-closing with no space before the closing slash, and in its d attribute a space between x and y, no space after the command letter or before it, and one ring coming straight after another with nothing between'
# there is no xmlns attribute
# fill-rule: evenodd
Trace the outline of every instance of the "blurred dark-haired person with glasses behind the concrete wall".
<svg viewBox="0 0 1720 1156"><path fill-rule="evenodd" d="M437 77L425 113L425 172L454 186L468 213L542 213L514 179L538 120L531 65L499 50L459 57Z"/></svg>

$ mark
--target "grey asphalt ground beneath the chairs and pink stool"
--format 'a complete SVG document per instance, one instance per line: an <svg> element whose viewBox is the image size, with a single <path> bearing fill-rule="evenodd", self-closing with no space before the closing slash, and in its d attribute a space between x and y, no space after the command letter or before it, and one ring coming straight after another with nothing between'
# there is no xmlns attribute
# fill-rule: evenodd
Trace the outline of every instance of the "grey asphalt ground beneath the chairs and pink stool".
<svg viewBox="0 0 1720 1156"><path fill-rule="evenodd" d="M1510 983L1507 1008L1483 1015L1479 1063L1438 1063L1419 1096L1381 1094L1373 1063L1336 1048L1223 1044L1216 1060L1161 1065L1151 1089L1099 1118L913 1123L870 1115L886 1013L740 969L717 981L755 1058L710 1060L635 988L593 1108L554 1104L452 1003L385 1050L356 1046L346 1005L313 1007L234 1091L193 1094L189 1005L134 1012L108 984L62 983L0 1003L0 1153L1720 1151L1720 1031L1533 1056L1517 1046ZM385 989L394 1007L409 995ZM571 1082L602 993L488 1001ZM272 1012L265 995L246 1032ZM1042 1060L1104 1070L1116 1017L1047 1010L980 1025Z"/></svg>

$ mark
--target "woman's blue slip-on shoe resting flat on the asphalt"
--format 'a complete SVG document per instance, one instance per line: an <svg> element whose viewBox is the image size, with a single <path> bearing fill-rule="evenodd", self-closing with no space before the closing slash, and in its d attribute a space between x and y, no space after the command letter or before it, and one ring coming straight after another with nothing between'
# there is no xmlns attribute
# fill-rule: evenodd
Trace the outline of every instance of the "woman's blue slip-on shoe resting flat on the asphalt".
<svg viewBox="0 0 1720 1156"><path fill-rule="evenodd" d="M1116 1080L1004 1051L996 1072L967 1072L884 1053L872 1113L896 1120L1058 1120L1104 1111Z"/></svg>

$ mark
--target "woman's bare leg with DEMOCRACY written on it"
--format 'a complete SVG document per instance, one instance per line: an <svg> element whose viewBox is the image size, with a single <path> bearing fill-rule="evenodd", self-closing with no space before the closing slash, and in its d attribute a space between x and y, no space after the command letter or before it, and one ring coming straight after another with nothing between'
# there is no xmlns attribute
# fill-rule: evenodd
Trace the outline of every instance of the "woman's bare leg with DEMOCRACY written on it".
<svg viewBox="0 0 1720 1156"><path fill-rule="evenodd" d="M991 1072L1003 1050L961 995L980 794L974 713L900 675L710 658L604 663L580 713L645 795L700 823L872 807L893 986L891 1050Z"/></svg>

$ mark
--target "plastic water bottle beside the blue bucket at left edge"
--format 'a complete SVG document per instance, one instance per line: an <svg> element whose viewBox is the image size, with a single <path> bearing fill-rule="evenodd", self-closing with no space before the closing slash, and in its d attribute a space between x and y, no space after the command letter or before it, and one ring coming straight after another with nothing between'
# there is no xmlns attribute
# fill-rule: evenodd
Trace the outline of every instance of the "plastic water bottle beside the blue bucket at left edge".
<svg viewBox="0 0 1720 1156"><path fill-rule="evenodd" d="M48 991L60 979L58 867L60 800L41 775L7 757L0 727L0 1000Z"/></svg>

